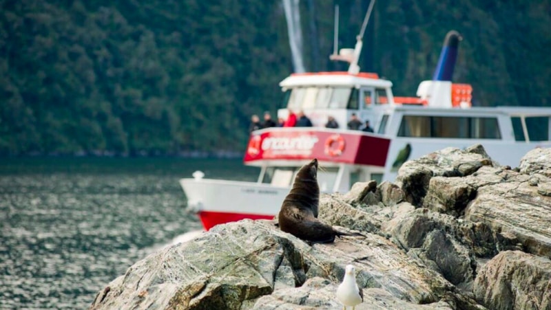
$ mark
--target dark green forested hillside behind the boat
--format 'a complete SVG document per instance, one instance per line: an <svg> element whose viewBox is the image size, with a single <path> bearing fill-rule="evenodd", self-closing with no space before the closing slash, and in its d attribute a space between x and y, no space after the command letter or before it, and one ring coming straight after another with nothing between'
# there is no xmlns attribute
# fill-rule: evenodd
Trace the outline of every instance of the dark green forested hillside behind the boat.
<svg viewBox="0 0 551 310"><path fill-rule="evenodd" d="M368 6L301 2L311 71L340 66L328 58L335 2L341 47ZM360 65L413 95L455 29L455 80L475 104L551 106L550 25L550 0L377 1ZM1 0L0 155L240 151L291 71L278 0Z"/></svg>

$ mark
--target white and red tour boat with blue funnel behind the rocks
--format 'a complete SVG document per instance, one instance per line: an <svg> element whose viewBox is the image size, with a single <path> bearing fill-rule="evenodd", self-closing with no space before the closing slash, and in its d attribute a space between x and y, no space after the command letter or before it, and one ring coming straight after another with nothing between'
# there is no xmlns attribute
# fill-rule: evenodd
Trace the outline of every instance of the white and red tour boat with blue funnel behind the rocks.
<svg viewBox="0 0 551 310"><path fill-rule="evenodd" d="M278 111L304 111L312 127L253 131L245 165L260 167L256 182L205 179L197 172L180 179L187 208L203 226L240 219L273 219L300 167L317 158L322 192L347 192L357 181L393 181L408 159L448 146L482 144L492 159L518 166L537 147L551 147L551 108L472 107L472 87L451 82L461 37L448 32L433 80L419 84L417 97L395 97L392 82L360 73L355 49L332 56L348 60L345 72L291 74L280 82L287 104ZM373 133L346 128L351 115L369 120ZM329 116L338 129L327 129Z"/></svg>

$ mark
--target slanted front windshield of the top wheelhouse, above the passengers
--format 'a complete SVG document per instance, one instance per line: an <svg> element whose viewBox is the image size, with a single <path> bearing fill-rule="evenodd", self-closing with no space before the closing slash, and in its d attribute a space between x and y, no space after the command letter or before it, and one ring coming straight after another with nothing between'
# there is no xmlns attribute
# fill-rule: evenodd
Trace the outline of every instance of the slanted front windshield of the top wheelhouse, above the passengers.
<svg viewBox="0 0 551 310"><path fill-rule="evenodd" d="M284 105L293 111L308 109L357 109L357 90L352 87L294 87L287 91Z"/></svg>

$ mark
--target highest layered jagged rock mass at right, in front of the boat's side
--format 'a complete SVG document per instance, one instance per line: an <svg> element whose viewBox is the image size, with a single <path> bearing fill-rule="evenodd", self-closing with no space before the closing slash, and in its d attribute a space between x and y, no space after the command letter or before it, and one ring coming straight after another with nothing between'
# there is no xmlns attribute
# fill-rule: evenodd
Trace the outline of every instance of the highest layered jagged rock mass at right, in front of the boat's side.
<svg viewBox="0 0 551 310"><path fill-rule="evenodd" d="M497 250L517 247L551 257L550 162L551 149L537 148L523 157L519 172L492 162L479 146L446 148L404 164L398 181L404 189L424 175L424 190L406 194L408 201L488 225L502 241Z"/></svg>

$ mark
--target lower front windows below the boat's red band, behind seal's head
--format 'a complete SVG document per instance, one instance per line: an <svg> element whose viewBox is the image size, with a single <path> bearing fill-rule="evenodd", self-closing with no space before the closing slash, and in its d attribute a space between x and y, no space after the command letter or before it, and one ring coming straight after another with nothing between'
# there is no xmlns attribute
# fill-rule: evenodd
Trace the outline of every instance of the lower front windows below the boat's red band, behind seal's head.
<svg viewBox="0 0 551 310"><path fill-rule="evenodd" d="M262 183L272 186L287 187L293 185L295 176L301 167L268 167ZM338 168L326 167L318 170L318 185L322 192L333 190L337 181Z"/></svg>

